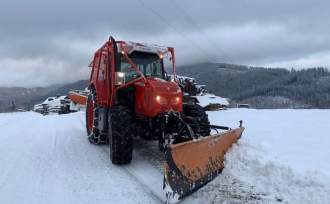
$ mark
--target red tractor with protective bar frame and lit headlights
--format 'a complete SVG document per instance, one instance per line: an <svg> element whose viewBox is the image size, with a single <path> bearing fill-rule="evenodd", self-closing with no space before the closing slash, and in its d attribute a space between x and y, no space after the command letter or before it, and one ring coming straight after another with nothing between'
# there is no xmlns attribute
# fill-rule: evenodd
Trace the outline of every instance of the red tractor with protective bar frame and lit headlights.
<svg viewBox="0 0 330 204"><path fill-rule="evenodd" d="M134 137L158 140L165 158L173 161L175 155L171 153L176 144L187 144L193 139L209 136L211 128L221 128L210 125L204 109L183 96L171 47L115 41L110 37L95 52L90 67L90 94L86 106L88 140L93 144L109 143L114 164L127 164L132 160ZM167 73L170 70L171 75ZM240 135L241 132L236 132L235 139ZM212 151L214 156L223 154L223 150ZM205 154L206 160L213 156L209 151L200 152ZM198 161L197 165L199 162L203 161ZM175 181L170 177L175 167L173 164L166 167L168 182L176 193L183 196L193 189L188 186L185 187L187 192L183 192L182 185L173 185ZM203 169L201 166L192 168L197 167ZM207 177L206 171L203 176Z"/></svg>

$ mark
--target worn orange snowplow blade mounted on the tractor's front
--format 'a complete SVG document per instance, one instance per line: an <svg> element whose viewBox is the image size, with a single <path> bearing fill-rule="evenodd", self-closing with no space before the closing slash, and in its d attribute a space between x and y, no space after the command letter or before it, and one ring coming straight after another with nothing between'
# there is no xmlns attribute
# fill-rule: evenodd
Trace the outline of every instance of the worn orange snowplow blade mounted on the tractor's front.
<svg viewBox="0 0 330 204"><path fill-rule="evenodd" d="M243 127L170 145L165 152L164 189L168 201L179 200L213 180L224 168L228 149Z"/></svg>

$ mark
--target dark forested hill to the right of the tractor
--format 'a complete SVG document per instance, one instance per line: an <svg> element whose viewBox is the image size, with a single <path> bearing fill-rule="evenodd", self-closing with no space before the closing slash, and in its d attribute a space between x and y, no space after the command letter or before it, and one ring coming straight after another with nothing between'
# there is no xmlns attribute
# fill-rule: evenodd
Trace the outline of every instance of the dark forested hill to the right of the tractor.
<svg viewBox="0 0 330 204"><path fill-rule="evenodd" d="M217 95L255 108L330 108L330 72L325 68L201 63L179 67L178 73L196 78Z"/></svg>

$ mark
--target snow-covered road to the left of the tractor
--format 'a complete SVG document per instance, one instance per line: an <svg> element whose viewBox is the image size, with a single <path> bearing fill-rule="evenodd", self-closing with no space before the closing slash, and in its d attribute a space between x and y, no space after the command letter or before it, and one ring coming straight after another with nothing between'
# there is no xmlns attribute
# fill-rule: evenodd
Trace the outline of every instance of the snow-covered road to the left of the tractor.
<svg viewBox="0 0 330 204"><path fill-rule="evenodd" d="M0 116L0 203L159 203L85 137L83 113Z"/></svg>

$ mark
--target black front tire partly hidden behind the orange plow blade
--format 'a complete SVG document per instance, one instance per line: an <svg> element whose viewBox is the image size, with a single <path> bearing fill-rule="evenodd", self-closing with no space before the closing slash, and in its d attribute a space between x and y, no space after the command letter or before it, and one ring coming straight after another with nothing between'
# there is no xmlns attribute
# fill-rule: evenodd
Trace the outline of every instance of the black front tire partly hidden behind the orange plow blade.
<svg viewBox="0 0 330 204"><path fill-rule="evenodd" d="M208 136L211 133L208 115L198 104L183 106L184 121L190 125L196 136Z"/></svg>

